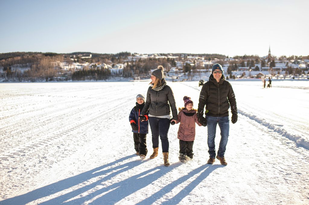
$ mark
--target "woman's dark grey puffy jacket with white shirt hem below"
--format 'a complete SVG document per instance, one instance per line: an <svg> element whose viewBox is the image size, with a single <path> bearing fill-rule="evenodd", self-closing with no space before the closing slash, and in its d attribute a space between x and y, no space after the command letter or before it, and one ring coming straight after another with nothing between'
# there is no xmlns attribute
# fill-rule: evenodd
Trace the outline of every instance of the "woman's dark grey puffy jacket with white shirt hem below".
<svg viewBox="0 0 309 205"><path fill-rule="evenodd" d="M171 87L165 85L160 91L155 91L151 88L151 86L148 88L146 103L141 115L145 115L148 109L149 114L153 116L170 115L172 110L173 120L177 120L176 102Z"/></svg>

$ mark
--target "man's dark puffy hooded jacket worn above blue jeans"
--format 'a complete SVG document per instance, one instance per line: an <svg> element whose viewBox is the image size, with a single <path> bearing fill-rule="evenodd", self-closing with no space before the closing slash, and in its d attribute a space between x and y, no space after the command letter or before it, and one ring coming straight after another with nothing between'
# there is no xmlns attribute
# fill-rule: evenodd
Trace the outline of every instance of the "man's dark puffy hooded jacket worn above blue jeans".
<svg viewBox="0 0 309 205"><path fill-rule="evenodd" d="M206 115L212 117L228 116L230 104L231 113L237 114L236 99L231 84L225 80L224 75L222 75L218 83L211 74L209 81L203 85L200 93L197 110L198 115L203 114L206 105Z"/></svg>

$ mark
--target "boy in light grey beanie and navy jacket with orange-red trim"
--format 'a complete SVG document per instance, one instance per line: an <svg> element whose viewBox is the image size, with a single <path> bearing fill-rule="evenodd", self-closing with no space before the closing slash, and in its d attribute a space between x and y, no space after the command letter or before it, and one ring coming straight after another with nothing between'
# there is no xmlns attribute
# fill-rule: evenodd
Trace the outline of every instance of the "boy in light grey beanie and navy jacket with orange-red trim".
<svg viewBox="0 0 309 205"><path fill-rule="evenodd" d="M143 94L138 94L135 104L136 106L134 106L129 115L129 121L133 132L134 149L136 155L145 159L147 155L146 134L148 134L148 120L142 122L138 120L139 114L145 105L145 96ZM147 114L148 113L146 113L145 116L147 116Z"/></svg>

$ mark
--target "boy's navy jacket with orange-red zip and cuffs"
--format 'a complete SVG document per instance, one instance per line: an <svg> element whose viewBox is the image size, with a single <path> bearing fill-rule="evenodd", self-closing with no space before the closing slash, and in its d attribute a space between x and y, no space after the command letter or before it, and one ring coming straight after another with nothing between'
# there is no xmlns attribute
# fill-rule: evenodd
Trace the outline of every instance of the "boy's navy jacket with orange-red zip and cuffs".
<svg viewBox="0 0 309 205"><path fill-rule="evenodd" d="M138 116L141 115L142 109L144 108L145 103L142 105L136 103L136 106L131 110L131 113L129 115L129 121L130 124L132 122L135 122L135 124L138 126L138 130L135 131L132 129L132 132L134 133L142 133L142 134L148 134L148 112L146 113L146 121L139 121Z"/></svg>

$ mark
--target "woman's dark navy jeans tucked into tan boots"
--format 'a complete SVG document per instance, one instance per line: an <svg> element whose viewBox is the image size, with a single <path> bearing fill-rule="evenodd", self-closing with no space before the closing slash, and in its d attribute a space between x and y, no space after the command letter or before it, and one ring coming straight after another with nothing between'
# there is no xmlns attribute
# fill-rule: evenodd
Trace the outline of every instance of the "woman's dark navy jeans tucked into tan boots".
<svg viewBox="0 0 309 205"><path fill-rule="evenodd" d="M167 133L170 129L170 119L160 117L149 117L149 125L152 134L152 147L159 147L159 136L162 144L162 152L168 152Z"/></svg>

